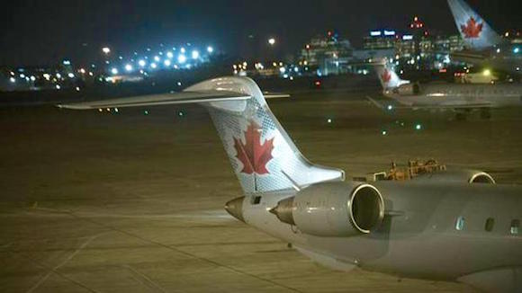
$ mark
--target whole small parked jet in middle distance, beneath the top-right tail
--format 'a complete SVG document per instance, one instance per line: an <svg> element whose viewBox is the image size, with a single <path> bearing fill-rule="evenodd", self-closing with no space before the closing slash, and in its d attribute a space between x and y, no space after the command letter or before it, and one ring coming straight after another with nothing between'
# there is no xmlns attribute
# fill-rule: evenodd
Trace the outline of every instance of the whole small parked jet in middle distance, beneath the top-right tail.
<svg viewBox="0 0 522 293"><path fill-rule="evenodd" d="M375 71L383 86L383 95L399 102L402 108L414 110L452 110L458 120L470 111L481 111L483 119L491 118L491 108L522 106L522 84L418 84L402 80L384 60ZM368 97L379 108L383 107Z"/></svg>

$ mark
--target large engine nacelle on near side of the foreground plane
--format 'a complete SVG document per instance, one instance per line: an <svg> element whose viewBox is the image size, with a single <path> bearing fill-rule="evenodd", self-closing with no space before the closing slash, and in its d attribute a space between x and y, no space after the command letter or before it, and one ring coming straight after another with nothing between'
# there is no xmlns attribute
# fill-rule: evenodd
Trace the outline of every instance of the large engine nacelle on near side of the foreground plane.
<svg viewBox="0 0 522 293"><path fill-rule="evenodd" d="M318 236L368 234L384 217L381 192L370 184L329 182L312 185L281 200L270 212L302 233Z"/></svg>

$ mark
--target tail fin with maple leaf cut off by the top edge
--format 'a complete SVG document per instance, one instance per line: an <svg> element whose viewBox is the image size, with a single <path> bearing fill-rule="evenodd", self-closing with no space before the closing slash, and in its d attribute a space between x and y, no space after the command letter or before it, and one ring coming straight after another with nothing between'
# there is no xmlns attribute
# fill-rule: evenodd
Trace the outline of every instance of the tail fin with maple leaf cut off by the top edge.
<svg viewBox="0 0 522 293"><path fill-rule="evenodd" d="M457 30L464 43L471 49L486 49L499 44L502 39L491 26L464 0L448 0L447 4L455 18Z"/></svg>

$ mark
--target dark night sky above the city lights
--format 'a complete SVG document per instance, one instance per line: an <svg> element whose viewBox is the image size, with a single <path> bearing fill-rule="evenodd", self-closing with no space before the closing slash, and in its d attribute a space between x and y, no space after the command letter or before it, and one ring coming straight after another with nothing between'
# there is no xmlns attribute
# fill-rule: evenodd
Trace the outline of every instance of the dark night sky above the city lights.
<svg viewBox="0 0 522 293"><path fill-rule="evenodd" d="M467 2L496 31L522 27L519 0ZM103 45L125 53L160 42L211 44L233 57L262 58L269 36L284 57L331 29L358 46L369 30L406 30L415 14L432 31L456 33L446 0L8 0L0 9L0 65L77 62L94 58Z"/></svg>

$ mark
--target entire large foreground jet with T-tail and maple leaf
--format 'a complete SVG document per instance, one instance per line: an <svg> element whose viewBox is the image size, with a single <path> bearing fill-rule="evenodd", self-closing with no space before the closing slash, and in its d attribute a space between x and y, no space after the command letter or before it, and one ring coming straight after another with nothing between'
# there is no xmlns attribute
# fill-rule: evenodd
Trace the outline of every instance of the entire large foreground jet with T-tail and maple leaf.
<svg viewBox="0 0 522 293"><path fill-rule="evenodd" d="M199 103L207 108L243 195L231 216L329 268L522 289L522 188L487 173L434 173L405 182L355 182L312 164L257 84L220 77L166 93L58 105L88 110ZM248 262L248 260L244 260Z"/></svg>

